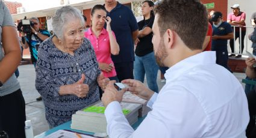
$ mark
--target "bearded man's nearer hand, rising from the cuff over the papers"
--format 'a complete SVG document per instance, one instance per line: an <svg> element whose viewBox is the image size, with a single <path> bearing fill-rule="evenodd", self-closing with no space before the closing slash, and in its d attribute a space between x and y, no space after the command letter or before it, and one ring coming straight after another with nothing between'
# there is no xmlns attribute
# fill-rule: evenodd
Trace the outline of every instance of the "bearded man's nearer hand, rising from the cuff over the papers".
<svg viewBox="0 0 256 138"><path fill-rule="evenodd" d="M115 80L111 80L107 88L104 91L104 94L102 94L102 103L105 107L108 106L112 101L119 101L119 103L122 101L123 94L126 92L127 88L121 89L120 91L117 91L117 89L114 87Z"/></svg>

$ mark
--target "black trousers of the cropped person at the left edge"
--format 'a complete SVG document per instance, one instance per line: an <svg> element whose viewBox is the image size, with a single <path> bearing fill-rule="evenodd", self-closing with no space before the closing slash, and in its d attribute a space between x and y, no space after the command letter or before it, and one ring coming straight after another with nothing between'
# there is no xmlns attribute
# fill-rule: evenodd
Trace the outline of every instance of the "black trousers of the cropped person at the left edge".
<svg viewBox="0 0 256 138"><path fill-rule="evenodd" d="M25 138L25 101L22 91L0 97L0 130L8 133L9 138Z"/></svg>

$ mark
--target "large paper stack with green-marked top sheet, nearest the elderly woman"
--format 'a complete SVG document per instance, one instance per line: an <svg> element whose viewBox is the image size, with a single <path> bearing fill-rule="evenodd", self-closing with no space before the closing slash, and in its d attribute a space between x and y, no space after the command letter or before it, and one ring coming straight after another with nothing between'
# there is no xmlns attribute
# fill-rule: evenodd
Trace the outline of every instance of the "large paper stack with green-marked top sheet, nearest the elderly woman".
<svg viewBox="0 0 256 138"><path fill-rule="evenodd" d="M134 103L120 103L122 106L123 114L126 119L133 125L138 120L138 110L142 104ZM93 133L107 133L107 121L104 115L105 107L102 101L78 110L72 115L71 128L75 130L89 131Z"/></svg>

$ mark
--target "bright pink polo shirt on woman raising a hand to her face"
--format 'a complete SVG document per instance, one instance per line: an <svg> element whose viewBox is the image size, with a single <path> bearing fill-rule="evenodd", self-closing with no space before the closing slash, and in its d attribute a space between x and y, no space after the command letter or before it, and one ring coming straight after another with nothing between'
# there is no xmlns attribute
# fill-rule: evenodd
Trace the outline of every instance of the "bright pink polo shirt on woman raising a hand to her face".
<svg viewBox="0 0 256 138"><path fill-rule="evenodd" d="M112 31L114 35L114 32ZM105 28L102 28L101 34L97 38L93 32L92 28L89 28L87 32L84 32L84 37L88 38L96 53L96 58L98 62L106 63L106 64L113 64L114 63L111 59L111 52L110 52L110 38L108 36L108 32ZM114 35L116 38L116 36ZM116 70L113 68L111 72L102 71L105 77L114 77L116 76Z"/></svg>

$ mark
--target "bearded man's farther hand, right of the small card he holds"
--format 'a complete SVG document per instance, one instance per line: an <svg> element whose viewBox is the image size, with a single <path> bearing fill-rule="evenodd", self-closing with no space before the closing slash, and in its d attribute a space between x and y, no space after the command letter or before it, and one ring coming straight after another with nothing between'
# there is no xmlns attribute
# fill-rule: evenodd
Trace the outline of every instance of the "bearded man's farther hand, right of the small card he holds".
<svg viewBox="0 0 256 138"><path fill-rule="evenodd" d="M143 85L143 83L139 80L126 79L123 80L122 83L125 83L129 86L127 91L130 91L132 94L135 94L145 100L149 100L155 93L151 91L151 89L146 88L146 86Z"/></svg>

